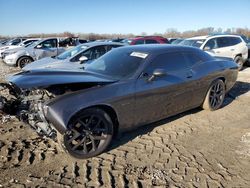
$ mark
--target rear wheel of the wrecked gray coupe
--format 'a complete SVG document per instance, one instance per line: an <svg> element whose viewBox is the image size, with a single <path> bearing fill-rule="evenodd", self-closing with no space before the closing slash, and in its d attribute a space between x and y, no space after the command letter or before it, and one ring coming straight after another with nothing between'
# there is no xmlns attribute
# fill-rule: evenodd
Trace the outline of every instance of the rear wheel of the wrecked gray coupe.
<svg viewBox="0 0 250 188"><path fill-rule="evenodd" d="M219 109L223 104L225 94L224 82L222 80L214 81L207 92L202 108L210 111Z"/></svg>

